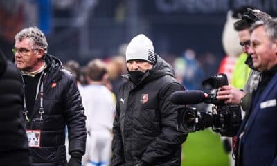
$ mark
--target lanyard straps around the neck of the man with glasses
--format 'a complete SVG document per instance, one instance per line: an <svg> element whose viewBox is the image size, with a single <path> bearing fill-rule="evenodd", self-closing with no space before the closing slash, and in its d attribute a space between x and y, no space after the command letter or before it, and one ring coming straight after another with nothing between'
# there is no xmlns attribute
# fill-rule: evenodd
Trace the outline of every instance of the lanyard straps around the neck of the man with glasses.
<svg viewBox="0 0 277 166"><path fill-rule="evenodd" d="M40 121L42 121L42 115L44 113L44 107L43 107L43 98L44 98L43 81L46 77L46 73L42 72L42 75L40 75L40 77L39 77L39 82L37 83L37 91L36 91L36 94L35 94L35 99L37 99L38 93L40 93L40 102L39 102L39 114L40 114L39 120ZM23 87L24 87L24 90L25 90L25 83L24 83L24 78L23 77L22 77L22 80L23 80ZM40 91L39 91L39 86L40 86ZM27 113L28 113L28 110L27 110L26 98L25 98L25 92L24 92L23 114L26 118L26 121L30 122L30 118L28 118Z"/></svg>

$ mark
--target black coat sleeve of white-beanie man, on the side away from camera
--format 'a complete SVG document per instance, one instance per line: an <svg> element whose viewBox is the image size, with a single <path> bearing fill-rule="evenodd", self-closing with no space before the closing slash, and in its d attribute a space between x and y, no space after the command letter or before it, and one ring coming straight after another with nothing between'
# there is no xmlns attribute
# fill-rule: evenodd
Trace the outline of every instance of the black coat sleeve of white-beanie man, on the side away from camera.
<svg viewBox="0 0 277 166"><path fill-rule="evenodd" d="M118 103L116 104L116 117L114 118L113 133L114 133L114 138L111 145L111 149L112 149L111 166L120 166L124 164L124 151L123 151L122 135L120 130L120 111L118 108Z"/></svg>

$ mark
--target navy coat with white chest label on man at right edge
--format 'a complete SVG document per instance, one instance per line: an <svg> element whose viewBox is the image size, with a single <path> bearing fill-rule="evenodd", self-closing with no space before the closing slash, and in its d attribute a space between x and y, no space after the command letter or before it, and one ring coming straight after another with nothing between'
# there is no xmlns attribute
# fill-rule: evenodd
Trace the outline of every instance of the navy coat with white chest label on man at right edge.
<svg viewBox="0 0 277 166"><path fill-rule="evenodd" d="M252 99L251 114L239 131L240 139L236 165L277 165L277 74L261 95Z"/></svg>

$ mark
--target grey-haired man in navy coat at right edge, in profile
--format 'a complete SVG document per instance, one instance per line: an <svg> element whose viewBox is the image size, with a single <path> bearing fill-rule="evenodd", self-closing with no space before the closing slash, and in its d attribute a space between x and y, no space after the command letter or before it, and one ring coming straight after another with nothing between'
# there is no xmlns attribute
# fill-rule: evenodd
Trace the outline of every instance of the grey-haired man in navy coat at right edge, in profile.
<svg viewBox="0 0 277 166"><path fill-rule="evenodd" d="M248 53L261 76L238 134L237 165L277 165L277 19L257 21L250 32Z"/></svg>

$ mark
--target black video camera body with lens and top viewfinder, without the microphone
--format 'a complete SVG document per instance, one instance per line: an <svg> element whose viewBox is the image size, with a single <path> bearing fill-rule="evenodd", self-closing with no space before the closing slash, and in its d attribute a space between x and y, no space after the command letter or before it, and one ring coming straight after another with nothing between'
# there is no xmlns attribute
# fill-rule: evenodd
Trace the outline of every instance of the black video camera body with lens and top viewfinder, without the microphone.
<svg viewBox="0 0 277 166"><path fill-rule="evenodd" d="M235 136L242 122L239 105L224 104L217 100L217 89L228 85L226 74L214 75L202 82L204 88L211 90L204 99L206 104L213 104L212 111L201 112L195 107L186 106L178 110L178 129L184 133L195 132L208 127L221 136Z"/></svg>

